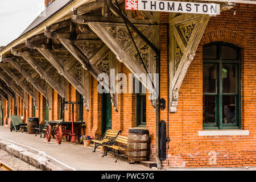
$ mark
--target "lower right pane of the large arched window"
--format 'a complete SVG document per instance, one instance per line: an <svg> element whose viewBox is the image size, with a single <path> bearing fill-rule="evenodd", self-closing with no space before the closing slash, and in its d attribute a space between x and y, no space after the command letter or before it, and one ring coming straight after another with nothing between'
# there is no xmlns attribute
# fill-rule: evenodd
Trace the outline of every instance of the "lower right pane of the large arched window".
<svg viewBox="0 0 256 182"><path fill-rule="evenodd" d="M222 123L236 123L236 96L222 96Z"/></svg>

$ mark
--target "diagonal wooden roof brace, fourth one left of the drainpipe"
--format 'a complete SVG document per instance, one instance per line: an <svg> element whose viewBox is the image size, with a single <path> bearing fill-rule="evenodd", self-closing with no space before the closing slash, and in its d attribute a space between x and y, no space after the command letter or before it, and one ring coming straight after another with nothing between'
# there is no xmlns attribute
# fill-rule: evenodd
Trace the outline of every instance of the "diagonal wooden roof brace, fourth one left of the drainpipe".
<svg viewBox="0 0 256 182"><path fill-rule="evenodd" d="M46 80L48 82L48 84L52 86L53 89L56 90L57 93L60 94L61 97L64 96L64 92L63 92L63 89L61 88L61 86L55 80L53 80L53 78L51 76L49 76L48 73L46 71L44 71L44 69L42 67L40 67L40 65L30 56L30 54L28 52L13 51L12 53L15 56L22 56L23 59L26 60L27 63L30 64L31 67L34 68L35 71L38 72L39 75L42 76L44 78L44 80Z"/></svg>

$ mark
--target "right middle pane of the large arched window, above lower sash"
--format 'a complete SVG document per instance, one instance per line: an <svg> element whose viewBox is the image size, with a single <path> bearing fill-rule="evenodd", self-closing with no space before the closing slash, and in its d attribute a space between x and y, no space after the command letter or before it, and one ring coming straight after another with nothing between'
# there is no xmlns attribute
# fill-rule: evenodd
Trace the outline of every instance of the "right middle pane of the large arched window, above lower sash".
<svg viewBox="0 0 256 182"><path fill-rule="evenodd" d="M237 65L222 65L222 93L237 93Z"/></svg>

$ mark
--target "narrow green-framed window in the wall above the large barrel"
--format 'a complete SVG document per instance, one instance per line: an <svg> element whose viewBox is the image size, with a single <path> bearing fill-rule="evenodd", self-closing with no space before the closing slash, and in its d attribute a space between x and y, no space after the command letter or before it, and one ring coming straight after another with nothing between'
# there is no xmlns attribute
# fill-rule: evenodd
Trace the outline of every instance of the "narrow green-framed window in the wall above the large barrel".
<svg viewBox="0 0 256 182"><path fill-rule="evenodd" d="M143 93L143 85L139 82L139 93L136 94L136 125L137 127L146 127L146 93Z"/></svg>

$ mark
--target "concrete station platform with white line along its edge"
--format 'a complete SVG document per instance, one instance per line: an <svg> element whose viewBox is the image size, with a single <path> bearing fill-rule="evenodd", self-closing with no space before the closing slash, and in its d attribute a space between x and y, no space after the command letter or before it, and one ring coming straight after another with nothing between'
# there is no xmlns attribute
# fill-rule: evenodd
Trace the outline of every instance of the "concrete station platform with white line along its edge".
<svg viewBox="0 0 256 182"><path fill-rule="evenodd" d="M144 167L141 164L129 164L125 159L118 159L115 163L115 157L111 154L102 158L102 152L99 149L93 153L93 145L84 147L82 144L63 141L60 145L56 139L47 142L40 135L28 135L18 132L10 132L10 129L0 126L0 140L15 144L20 152L31 152L44 157L52 164L63 170L79 171L145 171L157 170L156 168ZM19 148L21 147L21 148ZM25 151L24 151L25 150ZM17 154L18 155L18 154Z"/></svg>

